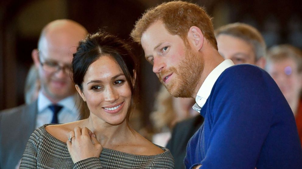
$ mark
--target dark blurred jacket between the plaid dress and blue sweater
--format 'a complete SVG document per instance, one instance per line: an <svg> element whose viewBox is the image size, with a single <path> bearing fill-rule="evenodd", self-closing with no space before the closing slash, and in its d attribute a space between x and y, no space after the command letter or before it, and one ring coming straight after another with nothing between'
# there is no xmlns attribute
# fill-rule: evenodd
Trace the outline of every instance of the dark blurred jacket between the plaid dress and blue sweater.
<svg viewBox="0 0 302 169"><path fill-rule="evenodd" d="M197 115L184 121L178 122L173 129L167 148L174 157L175 169L184 169L184 157L186 156L187 144L194 133L203 123L203 117Z"/></svg>

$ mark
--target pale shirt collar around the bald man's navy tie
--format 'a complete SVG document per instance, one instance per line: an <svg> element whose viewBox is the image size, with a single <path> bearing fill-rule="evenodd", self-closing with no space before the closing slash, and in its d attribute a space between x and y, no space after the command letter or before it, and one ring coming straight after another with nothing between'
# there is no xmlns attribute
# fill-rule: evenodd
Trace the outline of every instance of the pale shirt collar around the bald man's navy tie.
<svg viewBox="0 0 302 169"><path fill-rule="evenodd" d="M44 111L51 104L53 104L53 103L42 93L42 91L39 91L38 113ZM71 96L68 96L67 98L62 99L57 104L60 106L63 106L64 108L68 109L71 112L76 112L76 109L78 108L76 105L74 95L71 95Z"/></svg>

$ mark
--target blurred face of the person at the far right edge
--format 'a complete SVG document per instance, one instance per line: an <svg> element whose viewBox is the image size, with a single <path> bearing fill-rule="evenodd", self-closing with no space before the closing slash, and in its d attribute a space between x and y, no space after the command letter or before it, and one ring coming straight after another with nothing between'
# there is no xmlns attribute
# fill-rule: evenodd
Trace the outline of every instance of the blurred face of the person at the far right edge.
<svg viewBox="0 0 302 169"><path fill-rule="evenodd" d="M293 59L267 62L266 70L276 81L288 102L299 97L302 88L302 73L297 71L297 64Z"/></svg>

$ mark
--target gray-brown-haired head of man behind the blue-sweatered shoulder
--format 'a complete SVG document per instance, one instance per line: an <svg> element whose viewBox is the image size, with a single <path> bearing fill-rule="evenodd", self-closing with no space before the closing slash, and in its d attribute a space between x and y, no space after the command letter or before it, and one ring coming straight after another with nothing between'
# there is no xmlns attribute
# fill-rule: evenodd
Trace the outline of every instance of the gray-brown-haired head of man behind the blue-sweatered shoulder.
<svg viewBox="0 0 302 169"><path fill-rule="evenodd" d="M235 65L265 67L266 45L261 33L251 25L233 23L215 30L218 52Z"/></svg>

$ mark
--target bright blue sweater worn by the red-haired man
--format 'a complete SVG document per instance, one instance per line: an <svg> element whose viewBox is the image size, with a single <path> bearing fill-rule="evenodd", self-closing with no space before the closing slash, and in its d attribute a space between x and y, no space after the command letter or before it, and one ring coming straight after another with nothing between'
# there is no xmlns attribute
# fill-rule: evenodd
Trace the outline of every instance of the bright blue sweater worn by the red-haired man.
<svg viewBox="0 0 302 169"><path fill-rule="evenodd" d="M293 112L264 70L227 68L200 114L205 121L188 143L187 168L302 168Z"/></svg>

